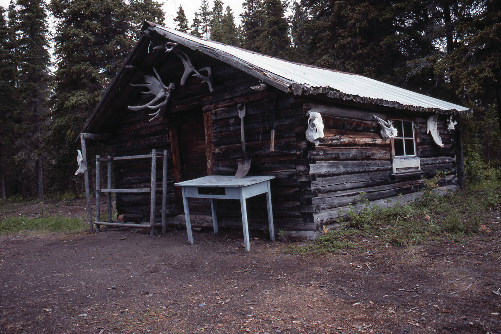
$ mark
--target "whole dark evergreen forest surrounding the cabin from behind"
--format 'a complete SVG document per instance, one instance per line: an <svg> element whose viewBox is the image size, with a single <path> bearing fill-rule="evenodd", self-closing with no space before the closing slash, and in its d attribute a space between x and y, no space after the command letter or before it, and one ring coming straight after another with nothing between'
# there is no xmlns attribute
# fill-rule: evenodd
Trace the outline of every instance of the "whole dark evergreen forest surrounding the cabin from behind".
<svg viewBox="0 0 501 334"><path fill-rule="evenodd" d="M501 180L500 1L242 1L239 20L222 0L200 0L192 20L182 6L164 13L154 0L0 7L0 201L81 196L78 134L144 20L167 16L194 36L467 106L468 182Z"/></svg>

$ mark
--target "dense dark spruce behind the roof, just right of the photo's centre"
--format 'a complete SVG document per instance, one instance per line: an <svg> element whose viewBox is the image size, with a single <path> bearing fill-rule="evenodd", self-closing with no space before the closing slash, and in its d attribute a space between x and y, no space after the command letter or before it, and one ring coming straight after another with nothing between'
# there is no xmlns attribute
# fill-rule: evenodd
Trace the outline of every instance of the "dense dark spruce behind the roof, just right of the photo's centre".
<svg viewBox="0 0 501 334"><path fill-rule="evenodd" d="M285 18L284 0L264 0L264 22L261 35L256 41L259 52L283 59L291 56L289 25Z"/></svg>

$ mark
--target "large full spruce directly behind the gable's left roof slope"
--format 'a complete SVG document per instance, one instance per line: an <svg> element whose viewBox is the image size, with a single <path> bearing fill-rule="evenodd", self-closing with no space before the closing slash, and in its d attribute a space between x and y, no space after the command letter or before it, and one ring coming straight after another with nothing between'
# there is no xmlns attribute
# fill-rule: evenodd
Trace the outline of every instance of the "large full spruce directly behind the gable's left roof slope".
<svg viewBox="0 0 501 334"><path fill-rule="evenodd" d="M48 145L58 170L53 173L53 184L62 185L60 190L66 190L74 177L77 134L135 43L137 13L150 20L163 17L156 2L133 3L53 0L50 4L57 20L54 54L58 63Z"/></svg>

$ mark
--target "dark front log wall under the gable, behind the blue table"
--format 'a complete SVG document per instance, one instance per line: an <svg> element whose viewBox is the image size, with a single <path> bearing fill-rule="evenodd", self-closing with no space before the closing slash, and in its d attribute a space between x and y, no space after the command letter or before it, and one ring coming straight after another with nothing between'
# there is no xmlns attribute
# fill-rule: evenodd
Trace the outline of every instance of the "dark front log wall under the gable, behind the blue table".
<svg viewBox="0 0 501 334"><path fill-rule="evenodd" d="M198 52L190 55L195 68L210 66L214 79L214 91L209 92L207 84L190 77L187 85L172 91L171 99L163 116L149 121L148 113L153 111L132 111L128 105L146 103L151 97L141 98L138 89L131 91L126 101L117 100L121 119L116 122L112 140L113 155L144 154L155 148L167 149L168 196L167 215L182 214L180 193L173 184L207 174L234 175L237 159L242 158L240 145L240 118L237 104L246 103L245 139L247 154L252 157L249 175L275 175L272 181L272 203L277 228L308 230L313 224L304 224L300 203L303 193L298 174L306 173L306 118L302 104L295 108L295 99L290 95L268 88L258 92L250 86L259 81L229 65L218 62ZM162 53L162 57L165 53ZM182 65L176 58L153 63L163 81L178 84ZM203 66L202 66L203 65ZM142 77L133 76L133 84L141 83ZM275 151L270 152L270 133L274 99L276 100ZM200 122L193 121L198 118ZM203 127L205 124L205 128ZM210 129L207 129L209 124ZM173 131L174 129L174 131ZM174 136L174 137L172 137ZM178 157L176 149L178 148ZM208 148L209 147L209 148ZM203 156L206 169L200 169ZM176 161L176 158L178 161ZM299 166L298 166L299 165ZM157 187L161 188L161 161L157 164ZM150 183L150 161L127 160L114 164L118 188L147 188ZM179 177L181 175L181 177ZM116 197L119 214L141 214L149 217L149 199L143 195L119 194ZM207 200L189 199L190 213L210 215ZM250 228L267 228L268 218L265 196L247 201ZM160 217L161 196L157 192L157 217ZM235 205L236 204L236 205ZM240 209L235 201L218 201L221 226L241 226ZM177 225L178 223L173 223Z"/></svg>

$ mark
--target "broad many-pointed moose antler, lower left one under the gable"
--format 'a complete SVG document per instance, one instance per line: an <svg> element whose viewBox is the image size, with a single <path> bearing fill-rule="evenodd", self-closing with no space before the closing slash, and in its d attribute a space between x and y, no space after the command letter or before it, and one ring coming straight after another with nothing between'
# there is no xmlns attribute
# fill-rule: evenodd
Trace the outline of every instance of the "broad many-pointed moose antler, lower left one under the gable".
<svg viewBox="0 0 501 334"><path fill-rule="evenodd" d="M156 109L156 108L158 108L157 111L155 111L154 113L150 114L150 116L153 116L152 118L150 118L150 121L152 121L153 119L157 118L160 115L161 107L164 106L164 105L166 105L167 102L169 102L170 92L172 91L172 89L176 88L176 86L174 85L174 83L171 83L169 86L166 86L163 83L162 79L160 79L160 76L158 75L158 72L157 72L157 70L155 68L153 68L153 72L155 72L156 77L154 77L151 74L145 74L144 75L144 81L145 81L145 83L143 83L143 84L137 84L137 85L131 85L131 86L134 86L134 87L146 87L146 88L148 88L148 91L141 92L141 93L143 93L145 95L155 95L155 97L153 98L153 100L151 100L150 102L148 102L146 104L139 105L139 106L136 106L136 107L131 107L131 106L127 107L130 110L142 110L142 109L146 109L146 108L148 108L148 109ZM163 101L160 102L157 105L153 105L154 103L156 103L160 99L163 99Z"/></svg>

